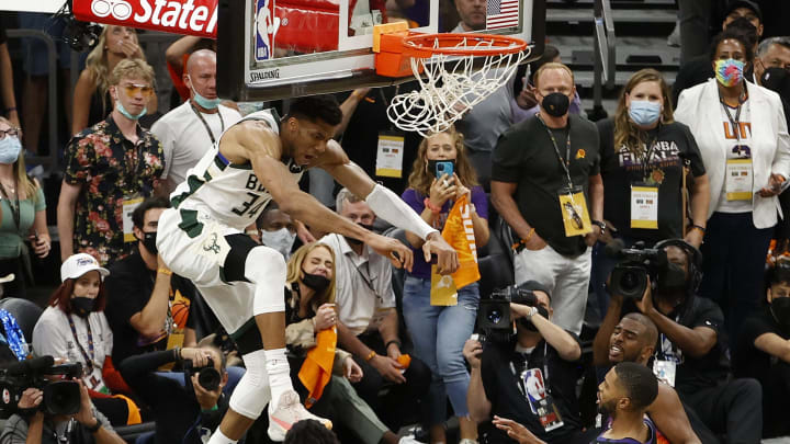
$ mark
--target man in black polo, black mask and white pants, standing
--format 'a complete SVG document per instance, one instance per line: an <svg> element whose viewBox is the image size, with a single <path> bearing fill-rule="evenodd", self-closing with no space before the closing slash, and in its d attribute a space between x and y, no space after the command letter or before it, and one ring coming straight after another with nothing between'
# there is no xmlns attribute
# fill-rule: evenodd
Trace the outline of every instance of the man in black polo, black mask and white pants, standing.
<svg viewBox="0 0 790 444"><path fill-rule="evenodd" d="M556 325L579 334L589 247L605 227L598 130L568 115L576 90L568 67L545 64L533 82L540 112L499 137L492 156L492 203L519 239L515 282L545 285Z"/></svg>

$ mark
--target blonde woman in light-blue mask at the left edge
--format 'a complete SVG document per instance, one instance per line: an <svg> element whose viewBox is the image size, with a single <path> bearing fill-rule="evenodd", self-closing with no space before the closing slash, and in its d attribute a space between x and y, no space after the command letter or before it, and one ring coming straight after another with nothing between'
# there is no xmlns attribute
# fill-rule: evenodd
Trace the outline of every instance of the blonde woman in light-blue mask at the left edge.
<svg viewBox="0 0 790 444"><path fill-rule="evenodd" d="M14 274L3 284L3 296L24 297L24 275L30 273L30 241L33 253L46 258L52 249L46 225L46 202L41 184L27 175L22 132L0 117L0 276Z"/></svg>

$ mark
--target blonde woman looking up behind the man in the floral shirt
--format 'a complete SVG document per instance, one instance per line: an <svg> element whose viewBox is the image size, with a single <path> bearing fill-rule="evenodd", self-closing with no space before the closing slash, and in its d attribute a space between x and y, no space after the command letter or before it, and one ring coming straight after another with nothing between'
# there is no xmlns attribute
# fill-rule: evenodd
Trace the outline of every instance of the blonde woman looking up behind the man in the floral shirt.
<svg viewBox="0 0 790 444"><path fill-rule="evenodd" d="M114 103L110 95L110 75L119 61L126 58L145 60L134 27L106 25L99 36L99 43L88 55L86 68L80 72L74 93L74 118L71 134L106 118ZM157 111L156 94L147 104L148 114ZM144 126L145 122L143 123Z"/></svg>

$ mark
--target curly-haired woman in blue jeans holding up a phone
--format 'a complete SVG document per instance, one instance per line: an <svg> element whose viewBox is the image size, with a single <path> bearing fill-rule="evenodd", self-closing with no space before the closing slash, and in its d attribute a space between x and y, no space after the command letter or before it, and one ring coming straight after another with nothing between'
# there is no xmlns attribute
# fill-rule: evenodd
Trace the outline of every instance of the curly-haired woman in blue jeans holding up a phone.
<svg viewBox="0 0 790 444"><path fill-rule="evenodd" d="M452 174L438 173L438 162L452 163ZM481 248L488 243L486 195L477 185L463 135L454 127L430 135L420 143L408 182L403 200L438 230L444 227L454 202L466 195L475 244ZM403 310L415 355L430 367L433 375L426 406L430 441L447 442L442 424L447 419L449 397L461 425L460 442L474 442L477 425L469 418L466 408L470 376L462 350L474 329L479 288L477 283L458 288L455 306L431 305L431 265L419 251L422 241L409 232L406 232L406 238L415 248L415 257L411 272L406 274Z"/></svg>

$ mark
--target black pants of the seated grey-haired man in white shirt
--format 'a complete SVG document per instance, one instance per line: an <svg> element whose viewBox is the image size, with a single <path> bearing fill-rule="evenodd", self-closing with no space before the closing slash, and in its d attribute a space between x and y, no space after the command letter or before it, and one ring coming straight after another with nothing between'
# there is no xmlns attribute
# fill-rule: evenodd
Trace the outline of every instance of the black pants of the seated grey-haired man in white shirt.
<svg viewBox="0 0 790 444"><path fill-rule="evenodd" d="M360 341L368 345L371 350L380 355L386 356L384 342L381 334L360 334ZM404 352L406 353L406 352ZM364 358L354 356L354 361L362 367L363 377L359 383L352 384L360 396L373 411L379 414L379 419L390 428L390 430L398 430L404 425L405 413L416 412L418 410L418 401L428 392L430 385L431 372L428 366L411 354L411 363L404 373L406 383L398 386L395 383L385 379L375 367L365 362ZM383 388L388 388L382 397L379 392Z"/></svg>

